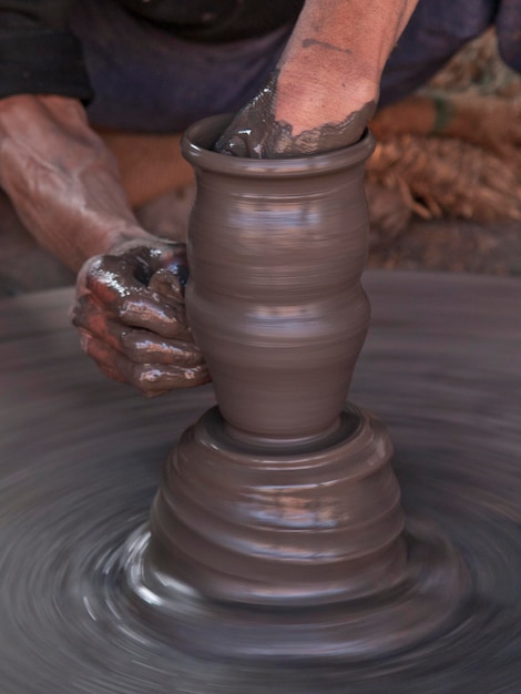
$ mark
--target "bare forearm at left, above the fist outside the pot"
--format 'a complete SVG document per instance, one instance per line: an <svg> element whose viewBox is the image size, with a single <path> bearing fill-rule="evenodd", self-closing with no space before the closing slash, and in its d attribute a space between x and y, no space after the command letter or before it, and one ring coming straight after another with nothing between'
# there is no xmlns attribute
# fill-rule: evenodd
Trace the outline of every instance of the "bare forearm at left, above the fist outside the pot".
<svg viewBox="0 0 521 694"><path fill-rule="evenodd" d="M0 185L37 241L73 271L119 243L152 238L132 214L115 161L73 99L0 101Z"/></svg>

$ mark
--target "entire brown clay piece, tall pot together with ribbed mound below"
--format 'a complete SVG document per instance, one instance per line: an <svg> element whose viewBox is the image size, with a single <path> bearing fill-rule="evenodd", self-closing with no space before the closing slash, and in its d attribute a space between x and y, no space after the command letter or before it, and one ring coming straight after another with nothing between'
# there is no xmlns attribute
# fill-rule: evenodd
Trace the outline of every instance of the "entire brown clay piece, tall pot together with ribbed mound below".
<svg viewBox="0 0 521 694"><path fill-rule="evenodd" d="M183 141L197 176L186 309L218 408L166 461L124 589L202 655L379 656L461 619L469 576L438 530L405 529L389 437L345 407L369 323L372 137L236 159L211 149L225 122Z"/></svg>

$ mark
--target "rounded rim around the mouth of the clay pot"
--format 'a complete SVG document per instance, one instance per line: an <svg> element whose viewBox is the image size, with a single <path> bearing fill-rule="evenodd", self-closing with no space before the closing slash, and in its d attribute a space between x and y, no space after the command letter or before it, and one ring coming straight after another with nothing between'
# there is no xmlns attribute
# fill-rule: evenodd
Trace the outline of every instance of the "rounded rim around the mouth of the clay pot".
<svg viewBox="0 0 521 694"><path fill-rule="evenodd" d="M193 123L181 141L184 157L196 169L222 174L253 176L309 176L349 169L365 161L375 150L375 137L366 130L361 140L341 150L292 159L247 159L227 156L211 147L231 123L232 113L211 115Z"/></svg>

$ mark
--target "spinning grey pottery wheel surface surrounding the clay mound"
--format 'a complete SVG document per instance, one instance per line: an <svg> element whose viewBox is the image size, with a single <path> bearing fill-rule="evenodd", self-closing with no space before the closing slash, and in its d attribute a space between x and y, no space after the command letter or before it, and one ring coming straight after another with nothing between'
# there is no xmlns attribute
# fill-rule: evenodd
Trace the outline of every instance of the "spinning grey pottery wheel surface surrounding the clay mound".
<svg viewBox="0 0 521 694"><path fill-rule="evenodd" d="M0 303L2 694L515 694L521 682L521 283L367 273L350 398L386 422L403 506L472 574L448 634L324 667L196 660L121 604L118 551L212 389L145 400L80 353L68 290ZM317 644L319 649L319 644Z"/></svg>

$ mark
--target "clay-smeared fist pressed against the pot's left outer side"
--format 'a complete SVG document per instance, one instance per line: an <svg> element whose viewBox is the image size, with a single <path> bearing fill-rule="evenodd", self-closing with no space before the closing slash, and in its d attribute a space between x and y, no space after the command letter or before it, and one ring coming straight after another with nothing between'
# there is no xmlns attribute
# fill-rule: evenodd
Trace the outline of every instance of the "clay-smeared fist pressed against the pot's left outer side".
<svg viewBox="0 0 521 694"><path fill-rule="evenodd" d="M145 396L210 380L184 308L184 244L120 244L78 277L73 323L82 347L110 378Z"/></svg>

